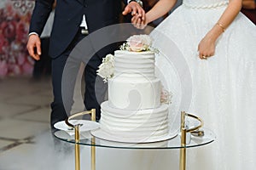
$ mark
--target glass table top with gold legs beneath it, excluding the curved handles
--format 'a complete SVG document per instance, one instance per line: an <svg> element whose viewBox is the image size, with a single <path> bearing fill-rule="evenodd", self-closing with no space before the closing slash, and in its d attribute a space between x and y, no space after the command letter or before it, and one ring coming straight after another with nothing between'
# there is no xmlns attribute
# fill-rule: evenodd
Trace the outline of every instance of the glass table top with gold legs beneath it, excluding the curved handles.
<svg viewBox="0 0 256 170"><path fill-rule="evenodd" d="M198 147L205 144L210 144L214 141L215 134L211 130L206 128L201 128L201 131L204 132L203 136L195 136L191 133L186 133L186 144L182 144L181 133L178 133L172 139L160 141L160 142L151 142L151 143L141 143L141 144L132 144L132 143L123 143L123 142L114 142L105 139L98 139L95 136L91 135L90 131L80 132L79 140L75 139L74 135L70 135L66 131L58 130L54 133L57 139L62 141L73 143L75 147L75 170L80 170L80 158L79 158L79 145L88 145L91 147L91 170L96 170L96 147L107 147L107 148L116 148L116 149L179 149L180 150L180 170L186 169L186 148Z"/></svg>

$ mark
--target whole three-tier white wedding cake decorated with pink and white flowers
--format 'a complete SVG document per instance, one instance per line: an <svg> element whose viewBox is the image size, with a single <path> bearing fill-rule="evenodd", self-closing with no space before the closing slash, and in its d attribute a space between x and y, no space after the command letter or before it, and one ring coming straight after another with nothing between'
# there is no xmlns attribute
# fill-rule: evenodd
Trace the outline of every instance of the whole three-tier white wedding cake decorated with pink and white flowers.
<svg viewBox="0 0 256 170"><path fill-rule="evenodd" d="M148 38L146 35L130 37L122 50L103 60L98 71L108 79L108 101L101 105L100 124L103 136L111 140L143 143L169 138L168 105L161 103L162 87L154 75L155 55L154 50L149 50ZM113 72L109 65L114 65ZM106 74L102 70L110 72Z"/></svg>

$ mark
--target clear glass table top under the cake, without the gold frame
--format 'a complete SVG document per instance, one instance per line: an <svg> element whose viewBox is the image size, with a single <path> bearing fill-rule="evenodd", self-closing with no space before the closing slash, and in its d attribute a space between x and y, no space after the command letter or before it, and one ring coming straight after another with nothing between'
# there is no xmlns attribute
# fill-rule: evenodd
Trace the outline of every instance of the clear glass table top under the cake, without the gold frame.
<svg viewBox="0 0 256 170"><path fill-rule="evenodd" d="M179 133L172 139L167 139L160 142L136 144L99 139L93 136L90 131L80 132L80 140L77 144L119 149L180 149L210 144L214 141L214 139L216 139L215 134L212 133L211 130L206 128L201 128L201 130L204 131L204 135L201 137L187 133L187 144L185 146L182 146L181 144L181 136ZM70 135L66 131L57 130L55 131L54 135L57 139L75 144L74 135Z"/></svg>

